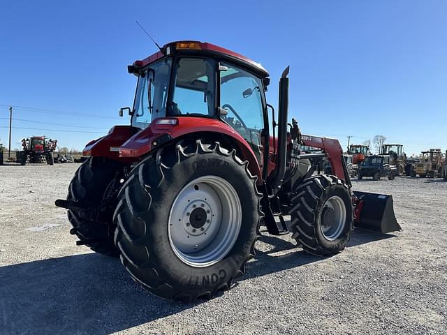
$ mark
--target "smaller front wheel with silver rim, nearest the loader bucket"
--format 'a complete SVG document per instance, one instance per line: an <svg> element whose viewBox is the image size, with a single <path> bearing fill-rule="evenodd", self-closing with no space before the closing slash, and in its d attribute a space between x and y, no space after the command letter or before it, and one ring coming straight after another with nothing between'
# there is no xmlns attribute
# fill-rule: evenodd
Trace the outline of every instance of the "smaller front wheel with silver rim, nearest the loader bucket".
<svg viewBox="0 0 447 335"><path fill-rule="evenodd" d="M335 176L306 179L292 198L291 230L298 245L319 256L342 251L353 229L352 196Z"/></svg>

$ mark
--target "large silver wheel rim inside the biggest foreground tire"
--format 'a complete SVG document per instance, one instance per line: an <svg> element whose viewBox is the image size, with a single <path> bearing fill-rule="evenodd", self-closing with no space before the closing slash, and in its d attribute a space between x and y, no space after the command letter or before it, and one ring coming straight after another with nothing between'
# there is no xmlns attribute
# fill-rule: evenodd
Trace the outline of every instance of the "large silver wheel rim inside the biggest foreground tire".
<svg viewBox="0 0 447 335"><path fill-rule="evenodd" d="M209 267L233 248L242 224L242 206L231 184L199 177L182 188L168 219L171 248L191 267Z"/></svg>

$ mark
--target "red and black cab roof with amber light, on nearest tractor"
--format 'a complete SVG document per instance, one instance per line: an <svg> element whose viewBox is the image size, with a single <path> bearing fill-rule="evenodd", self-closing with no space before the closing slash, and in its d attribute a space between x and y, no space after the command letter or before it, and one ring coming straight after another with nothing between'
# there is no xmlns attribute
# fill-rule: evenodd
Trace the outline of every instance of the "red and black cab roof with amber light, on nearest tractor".
<svg viewBox="0 0 447 335"><path fill-rule="evenodd" d="M167 43L161 47L159 52L156 52L145 59L135 61L133 66L142 68L143 66L147 66L148 64L151 64L162 57L170 56L171 54L175 53L196 54L222 59L223 61L232 61L236 65L242 66L243 68L246 68L247 70L250 70L261 77L269 76L267 70L265 70L261 64L256 63L256 61L253 61L242 54L238 54L237 52L219 47L218 45L200 42L197 40L178 40Z"/></svg>

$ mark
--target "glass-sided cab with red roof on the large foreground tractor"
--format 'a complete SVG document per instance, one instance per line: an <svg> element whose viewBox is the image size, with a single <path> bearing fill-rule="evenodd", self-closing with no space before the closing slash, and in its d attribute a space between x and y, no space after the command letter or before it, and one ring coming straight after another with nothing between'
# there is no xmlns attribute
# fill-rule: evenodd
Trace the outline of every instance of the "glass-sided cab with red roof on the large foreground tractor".
<svg viewBox="0 0 447 335"><path fill-rule="evenodd" d="M135 61L129 73L138 77L131 115L134 132L161 126L213 124L236 133L253 151L258 164L263 155L263 135L268 135L265 91L268 72L254 61L216 45L195 41L175 42L161 52ZM263 133L264 132L264 133ZM124 144L119 156L132 156Z"/></svg>

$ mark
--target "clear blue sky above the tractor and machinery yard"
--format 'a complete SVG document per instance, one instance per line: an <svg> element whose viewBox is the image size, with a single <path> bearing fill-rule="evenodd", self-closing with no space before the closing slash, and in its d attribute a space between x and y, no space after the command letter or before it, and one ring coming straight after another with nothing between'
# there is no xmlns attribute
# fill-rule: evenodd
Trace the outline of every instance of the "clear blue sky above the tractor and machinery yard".
<svg viewBox="0 0 447 335"><path fill-rule="evenodd" d="M45 134L82 149L128 122L117 117L135 93L126 66L156 51L138 20L159 44L203 40L263 64L273 105L290 65L289 111L303 133L344 147L347 135L381 134L407 154L447 149L447 1L16 0L1 1L0 13L6 145L8 105L22 107L13 147Z"/></svg>

